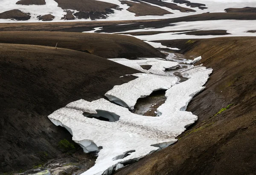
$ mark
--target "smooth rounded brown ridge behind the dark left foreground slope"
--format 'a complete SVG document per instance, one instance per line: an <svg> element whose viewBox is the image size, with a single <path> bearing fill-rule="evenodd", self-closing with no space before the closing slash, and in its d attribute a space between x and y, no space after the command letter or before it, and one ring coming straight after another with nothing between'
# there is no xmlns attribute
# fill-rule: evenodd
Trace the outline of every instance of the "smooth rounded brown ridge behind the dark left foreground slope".
<svg viewBox="0 0 256 175"><path fill-rule="evenodd" d="M32 44L73 49L105 58L161 57L165 55L135 37L73 32L0 32L0 43Z"/></svg>

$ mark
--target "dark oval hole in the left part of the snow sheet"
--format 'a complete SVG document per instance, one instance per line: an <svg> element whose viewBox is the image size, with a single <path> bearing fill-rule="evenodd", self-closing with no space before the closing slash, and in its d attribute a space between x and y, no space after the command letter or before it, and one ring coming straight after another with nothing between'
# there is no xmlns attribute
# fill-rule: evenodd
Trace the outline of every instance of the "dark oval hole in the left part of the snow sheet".
<svg viewBox="0 0 256 175"><path fill-rule="evenodd" d="M104 111L104 110L96 110L97 114L90 114L88 115L87 112L84 112L83 115L84 117L87 118L96 118L98 120L102 120L102 121L110 121L110 122L115 122L118 121L120 116L116 115L112 112L108 112L108 111Z"/></svg>

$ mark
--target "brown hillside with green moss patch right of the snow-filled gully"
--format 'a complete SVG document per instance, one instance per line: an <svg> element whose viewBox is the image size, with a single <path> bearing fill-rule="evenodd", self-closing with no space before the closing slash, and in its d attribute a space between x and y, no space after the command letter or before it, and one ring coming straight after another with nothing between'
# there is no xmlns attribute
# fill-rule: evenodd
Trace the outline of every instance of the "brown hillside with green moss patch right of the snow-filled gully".
<svg viewBox="0 0 256 175"><path fill-rule="evenodd" d="M181 53L191 58L202 55L200 63L213 68L206 89L187 109L198 115L198 121L177 143L117 175L256 174L256 37L191 41L175 42L183 46ZM169 40L168 46L174 47L172 43Z"/></svg>

